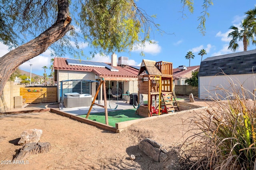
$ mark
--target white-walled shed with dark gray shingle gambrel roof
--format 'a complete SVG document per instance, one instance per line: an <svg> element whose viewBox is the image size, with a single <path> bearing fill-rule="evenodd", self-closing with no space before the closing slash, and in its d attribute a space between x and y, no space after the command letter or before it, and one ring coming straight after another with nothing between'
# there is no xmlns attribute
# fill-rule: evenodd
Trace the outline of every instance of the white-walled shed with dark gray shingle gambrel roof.
<svg viewBox="0 0 256 170"><path fill-rule="evenodd" d="M198 81L199 97L212 99L216 95L225 99L225 90L240 89L241 85L247 89L250 99L253 99L253 90L256 89L256 50L242 51L208 57L201 62ZM232 96L230 96L232 97Z"/></svg>

